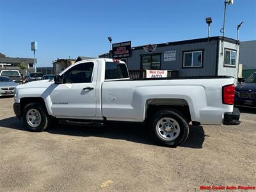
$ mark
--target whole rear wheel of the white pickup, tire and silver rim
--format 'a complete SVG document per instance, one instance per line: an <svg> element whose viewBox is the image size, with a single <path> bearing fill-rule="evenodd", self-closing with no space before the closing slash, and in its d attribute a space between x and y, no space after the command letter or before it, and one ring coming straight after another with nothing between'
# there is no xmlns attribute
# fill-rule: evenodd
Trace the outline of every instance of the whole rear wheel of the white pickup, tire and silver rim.
<svg viewBox="0 0 256 192"><path fill-rule="evenodd" d="M179 112L157 111L150 120L150 134L161 145L180 145L188 138L189 125Z"/></svg>

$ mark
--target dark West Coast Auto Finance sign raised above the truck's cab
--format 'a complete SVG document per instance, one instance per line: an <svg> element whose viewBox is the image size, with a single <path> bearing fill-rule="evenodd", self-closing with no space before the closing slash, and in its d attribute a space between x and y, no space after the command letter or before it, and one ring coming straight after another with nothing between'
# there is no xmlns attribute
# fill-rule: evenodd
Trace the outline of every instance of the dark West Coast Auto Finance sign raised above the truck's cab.
<svg viewBox="0 0 256 192"><path fill-rule="evenodd" d="M113 58L127 58L131 56L131 41L112 44Z"/></svg>

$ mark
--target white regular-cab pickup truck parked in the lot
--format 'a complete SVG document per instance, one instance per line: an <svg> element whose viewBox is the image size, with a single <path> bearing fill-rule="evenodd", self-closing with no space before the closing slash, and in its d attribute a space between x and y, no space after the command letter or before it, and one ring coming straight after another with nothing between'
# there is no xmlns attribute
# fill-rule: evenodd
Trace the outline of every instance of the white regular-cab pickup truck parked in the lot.
<svg viewBox="0 0 256 192"><path fill-rule="evenodd" d="M232 77L129 79L123 61L93 59L71 65L54 81L17 86L13 109L31 131L43 131L54 119L145 122L154 140L179 145L188 138L189 122L239 124L233 104Z"/></svg>

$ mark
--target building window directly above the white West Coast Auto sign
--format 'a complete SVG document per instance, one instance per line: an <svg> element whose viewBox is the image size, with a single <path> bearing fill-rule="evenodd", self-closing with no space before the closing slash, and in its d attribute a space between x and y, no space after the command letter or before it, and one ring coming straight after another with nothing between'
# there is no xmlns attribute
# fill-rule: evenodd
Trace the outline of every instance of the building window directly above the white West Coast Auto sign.
<svg viewBox="0 0 256 192"><path fill-rule="evenodd" d="M161 54L142 56L142 69L160 69L161 68Z"/></svg>

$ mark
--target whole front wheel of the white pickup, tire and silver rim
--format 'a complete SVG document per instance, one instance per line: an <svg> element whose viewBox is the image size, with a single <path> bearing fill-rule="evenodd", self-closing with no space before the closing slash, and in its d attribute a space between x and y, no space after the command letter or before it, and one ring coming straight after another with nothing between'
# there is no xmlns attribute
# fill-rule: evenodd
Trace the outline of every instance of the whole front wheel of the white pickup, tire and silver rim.
<svg viewBox="0 0 256 192"><path fill-rule="evenodd" d="M49 126L49 116L44 107L39 103L25 106L22 119L29 131L44 131Z"/></svg>

